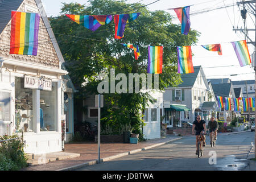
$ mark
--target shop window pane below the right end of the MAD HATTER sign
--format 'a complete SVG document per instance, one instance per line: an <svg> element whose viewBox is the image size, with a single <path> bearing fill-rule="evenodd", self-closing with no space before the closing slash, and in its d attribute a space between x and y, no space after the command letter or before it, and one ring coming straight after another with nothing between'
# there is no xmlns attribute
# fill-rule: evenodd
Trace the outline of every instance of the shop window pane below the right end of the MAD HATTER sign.
<svg viewBox="0 0 256 182"><path fill-rule="evenodd" d="M52 90L40 90L40 131L57 131L56 83Z"/></svg>

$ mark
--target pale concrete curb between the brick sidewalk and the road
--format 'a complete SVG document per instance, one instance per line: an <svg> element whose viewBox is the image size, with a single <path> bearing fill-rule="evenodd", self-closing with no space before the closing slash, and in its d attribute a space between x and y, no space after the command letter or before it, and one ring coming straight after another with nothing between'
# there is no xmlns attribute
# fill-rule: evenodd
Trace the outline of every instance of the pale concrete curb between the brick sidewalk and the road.
<svg viewBox="0 0 256 182"><path fill-rule="evenodd" d="M147 146L147 147L144 147L144 148L139 148L139 149L132 150L132 151L129 151L129 152L123 152L123 153L118 154L118 155L109 156L109 157L106 157L106 158L101 159L101 162L105 162L105 161L112 160L112 159L116 159L116 158L121 158L122 156L130 155L130 154L135 154L136 152L139 152L139 151L142 151L142 150L147 150L147 149L153 148L153 147L157 147L157 146L160 146L160 145L169 143L169 142L174 142L174 141L179 140L179 139L181 139L181 138L182 138L182 137L180 137L180 138L175 138L175 139L168 140L167 142L157 143L157 144L153 144L153 145L151 145L151 146ZM97 161L98 161L98 160L91 160L91 161L86 162L86 163L78 164L78 165L72 166L72 167L57 169L57 170L55 170L55 171L73 171L73 170L79 169L79 168L81 168L81 167L92 166L92 165L94 165L94 164L97 164Z"/></svg>

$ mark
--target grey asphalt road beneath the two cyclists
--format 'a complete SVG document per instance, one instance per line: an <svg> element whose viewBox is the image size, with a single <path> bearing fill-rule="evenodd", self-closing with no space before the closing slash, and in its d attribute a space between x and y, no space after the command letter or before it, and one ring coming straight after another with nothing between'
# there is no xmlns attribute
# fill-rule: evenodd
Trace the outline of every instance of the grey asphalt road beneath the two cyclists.
<svg viewBox="0 0 256 182"><path fill-rule="evenodd" d="M248 164L246 157L254 143L254 132L218 134L216 147L207 146L197 158L195 137L170 142L159 147L87 166L78 171L236 171Z"/></svg>

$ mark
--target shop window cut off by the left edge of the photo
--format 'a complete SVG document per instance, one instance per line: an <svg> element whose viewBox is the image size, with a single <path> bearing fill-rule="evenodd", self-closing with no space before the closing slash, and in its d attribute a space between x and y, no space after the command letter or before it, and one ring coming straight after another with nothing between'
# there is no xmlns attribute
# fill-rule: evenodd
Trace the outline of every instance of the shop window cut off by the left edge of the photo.
<svg viewBox="0 0 256 182"><path fill-rule="evenodd" d="M0 91L0 121L10 121L10 93Z"/></svg>

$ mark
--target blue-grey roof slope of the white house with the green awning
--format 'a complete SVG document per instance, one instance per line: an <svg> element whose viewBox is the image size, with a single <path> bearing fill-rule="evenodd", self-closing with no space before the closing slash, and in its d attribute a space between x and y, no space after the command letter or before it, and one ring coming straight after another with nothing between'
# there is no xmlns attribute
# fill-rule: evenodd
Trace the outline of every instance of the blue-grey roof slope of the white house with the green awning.
<svg viewBox="0 0 256 182"><path fill-rule="evenodd" d="M177 87L181 86L193 86L195 84L196 78L198 76L198 73L200 71L201 66L194 67L193 73L187 73L181 75L181 84L179 84Z"/></svg>

